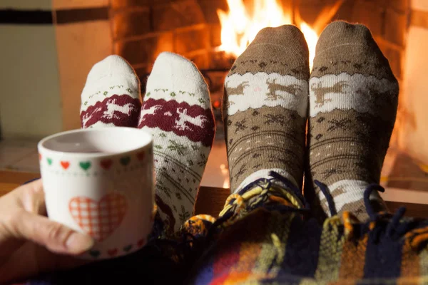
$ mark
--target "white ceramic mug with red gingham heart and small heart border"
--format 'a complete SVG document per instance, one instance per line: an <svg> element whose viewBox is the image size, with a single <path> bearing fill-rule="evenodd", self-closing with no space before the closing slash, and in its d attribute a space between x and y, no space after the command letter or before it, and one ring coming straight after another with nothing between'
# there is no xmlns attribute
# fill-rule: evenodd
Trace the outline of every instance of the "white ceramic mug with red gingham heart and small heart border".
<svg viewBox="0 0 428 285"><path fill-rule="evenodd" d="M152 135L136 128L90 128L38 144L49 219L91 235L83 259L109 259L146 244L153 225Z"/></svg>

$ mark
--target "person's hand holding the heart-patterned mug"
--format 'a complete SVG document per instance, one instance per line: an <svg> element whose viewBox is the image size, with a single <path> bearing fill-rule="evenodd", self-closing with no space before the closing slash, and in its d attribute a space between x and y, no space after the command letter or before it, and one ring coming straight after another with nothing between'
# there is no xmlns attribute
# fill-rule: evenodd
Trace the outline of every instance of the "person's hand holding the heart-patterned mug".
<svg viewBox="0 0 428 285"><path fill-rule="evenodd" d="M41 180L0 197L0 284L88 263L93 239L46 217Z"/></svg>

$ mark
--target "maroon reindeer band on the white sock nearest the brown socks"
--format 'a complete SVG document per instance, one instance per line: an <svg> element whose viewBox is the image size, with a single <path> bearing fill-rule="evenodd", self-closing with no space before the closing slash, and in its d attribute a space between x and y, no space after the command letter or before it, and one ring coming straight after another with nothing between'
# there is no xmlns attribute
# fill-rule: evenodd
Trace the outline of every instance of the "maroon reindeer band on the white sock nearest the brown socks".
<svg viewBox="0 0 428 285"><path fill-rule="evenodd" d="M141 107L141 123L138 128L160 128L165 132L185 136L193 142L210 147L214 138L214 118L210 109L200 105L190 106L175 100L148 99Z"/></svg>

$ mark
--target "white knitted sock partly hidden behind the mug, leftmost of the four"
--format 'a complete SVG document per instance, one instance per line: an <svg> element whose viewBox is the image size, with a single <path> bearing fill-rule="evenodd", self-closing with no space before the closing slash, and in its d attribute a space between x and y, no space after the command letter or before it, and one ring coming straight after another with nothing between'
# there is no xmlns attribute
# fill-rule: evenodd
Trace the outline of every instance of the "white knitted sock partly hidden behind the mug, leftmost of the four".
<svg viewBox="0 0 428 285"><path fill-rule="evenodd" d="M88 74L81 94L81 126L136 127L141 108L140 81L120 56L108 56Z"/></svg>

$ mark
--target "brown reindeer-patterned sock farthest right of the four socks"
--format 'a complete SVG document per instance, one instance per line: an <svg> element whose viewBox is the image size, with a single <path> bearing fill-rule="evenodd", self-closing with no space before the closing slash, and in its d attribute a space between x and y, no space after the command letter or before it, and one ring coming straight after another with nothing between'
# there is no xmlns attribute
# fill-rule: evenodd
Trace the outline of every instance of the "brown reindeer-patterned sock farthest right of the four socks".
<svg viewBox="0 0 428 285"><path fill-rule="evenodd" d="M306 181L327 185L337 212L365 219L363 194L367 185L379 183L394 128L397 80L365 26L337 21L320 36L309 85ZM319 187L313 187L328 209ZM377 192L371 199L384 207Z"/></svg>

